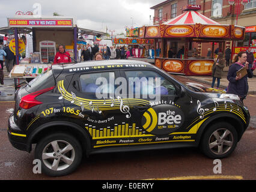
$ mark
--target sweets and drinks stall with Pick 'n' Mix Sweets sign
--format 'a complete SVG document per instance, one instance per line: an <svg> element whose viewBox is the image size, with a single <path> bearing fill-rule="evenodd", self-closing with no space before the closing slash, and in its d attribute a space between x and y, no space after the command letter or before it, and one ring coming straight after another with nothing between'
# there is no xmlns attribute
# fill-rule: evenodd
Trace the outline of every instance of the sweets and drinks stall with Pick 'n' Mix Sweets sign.
<svg viewBox="0 0 256 192"><path fill-rule="evenodd" d="M76 19L62 16L41 16L31 15L16 16L7 18L8 28L0 28L0 34L14 35L10 42L10 49L16 56L16 65L10 73L14 77L14 83L19 78L34 78L40 74L41 69L50 67L58 52L58 46L66 46L70 56L78 59L78 36L103 35L105 33L91 29L78 28ZM20 60L19 54L25 49L25 41L22 34L32 35L32 50L29 58ZM19 47L19 49L16 49ZM31 70L32 68L32 70ZM39 72L38 72L39 71ZM19 72L19 73L16 73Z"/></svg>

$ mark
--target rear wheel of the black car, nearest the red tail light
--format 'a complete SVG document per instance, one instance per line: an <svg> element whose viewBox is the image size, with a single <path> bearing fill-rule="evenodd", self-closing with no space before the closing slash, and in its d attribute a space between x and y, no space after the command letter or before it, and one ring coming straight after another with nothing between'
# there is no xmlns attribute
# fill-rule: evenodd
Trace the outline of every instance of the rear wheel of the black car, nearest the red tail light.
<svg viewBox="0 0 256 192"><path fill-rule="evenodd" d="M41 171L49 176L72 173L82 160L82 148L75 137L54 133L44 137L35 147L35 159L41 161Z"/></svg>

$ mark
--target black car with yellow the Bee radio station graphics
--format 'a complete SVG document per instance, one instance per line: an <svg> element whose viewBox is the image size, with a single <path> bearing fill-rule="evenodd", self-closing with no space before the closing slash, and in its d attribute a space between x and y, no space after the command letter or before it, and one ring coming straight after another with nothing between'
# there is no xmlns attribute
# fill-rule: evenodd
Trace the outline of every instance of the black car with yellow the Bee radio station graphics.
<svg viewBox="0 0 256 192"><path fill-rule="evenodd" d="M43 173L73 172L83 154L200 146L210 158L236 148L250 115L237 95L194 91L140 61L52 65L16 91L8 137Z"/></svg>

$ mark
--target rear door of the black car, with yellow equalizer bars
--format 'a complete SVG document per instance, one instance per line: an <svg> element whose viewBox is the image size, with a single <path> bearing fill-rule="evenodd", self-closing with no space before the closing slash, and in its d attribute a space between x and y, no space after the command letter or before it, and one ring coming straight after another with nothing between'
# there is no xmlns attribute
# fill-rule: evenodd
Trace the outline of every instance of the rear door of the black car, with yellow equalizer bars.
<svg viewBox="0 0 256 192"><path fill-rule="evenodd" d="M130 119L120 110L128 101L115 95L118 76L118 70L76 73L67 90L66 113L82 122L94 149L129 145Z"/></svg>

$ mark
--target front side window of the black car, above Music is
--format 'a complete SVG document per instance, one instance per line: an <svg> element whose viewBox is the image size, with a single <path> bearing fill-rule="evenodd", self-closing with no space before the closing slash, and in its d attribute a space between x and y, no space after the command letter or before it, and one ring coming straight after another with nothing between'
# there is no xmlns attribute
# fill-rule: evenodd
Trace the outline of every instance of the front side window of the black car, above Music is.
<svg viewBox="0 0 256 192"><path fill-rule="evenodd" d="M133 88L134 93L139 91L143 94L176 94L175 86L154 71L126 71L125 73L128 85Z"/></svg>

